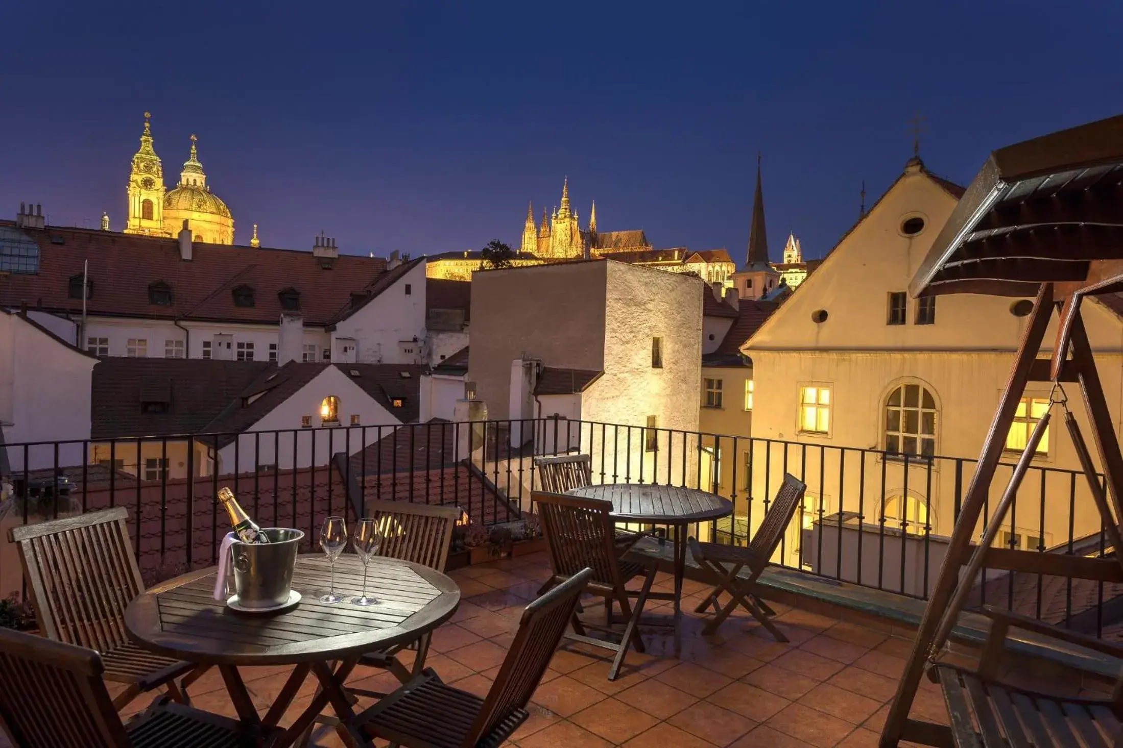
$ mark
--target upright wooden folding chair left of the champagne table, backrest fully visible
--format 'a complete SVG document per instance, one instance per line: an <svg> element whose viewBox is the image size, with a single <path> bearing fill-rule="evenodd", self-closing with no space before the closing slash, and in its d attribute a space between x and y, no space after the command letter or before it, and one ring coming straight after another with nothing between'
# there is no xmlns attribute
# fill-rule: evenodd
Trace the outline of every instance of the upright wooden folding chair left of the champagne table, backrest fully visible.
<svg viewBox="0 0 1123 748"><path fill-rule="evenodd" d="M125 631L125 609L144 591L124 507L8 530L18 544L35 618L44 636L101 654L106 680L125 683L113 700L122 709L143 691L162 686L189 703L186 687L207 667L154 655ZM175 680L186 675L182 684Z"/></svg>

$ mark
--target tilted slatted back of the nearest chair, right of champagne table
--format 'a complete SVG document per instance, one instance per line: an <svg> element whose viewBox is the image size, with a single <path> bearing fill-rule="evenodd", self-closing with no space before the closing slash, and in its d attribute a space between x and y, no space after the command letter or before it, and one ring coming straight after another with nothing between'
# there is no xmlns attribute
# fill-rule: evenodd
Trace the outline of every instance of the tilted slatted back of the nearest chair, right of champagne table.
<svg viewBox="0 0 1123 748"><path fill-rule="evenodd" d="M527 705L592 575L588 569L577 572L522 611L514 641L462 748L473 748L512 712Z"/></svg>

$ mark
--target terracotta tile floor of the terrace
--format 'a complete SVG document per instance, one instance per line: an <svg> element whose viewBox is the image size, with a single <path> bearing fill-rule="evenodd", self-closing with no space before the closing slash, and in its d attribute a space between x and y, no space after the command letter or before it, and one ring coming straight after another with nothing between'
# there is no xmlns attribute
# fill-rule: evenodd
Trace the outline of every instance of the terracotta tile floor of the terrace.
<svg viewBox="0 0 1123 748"><path fill-rule="evenodd" d="M437 631L428 665L448 682L484 695L518 627L522 607L549 574L542 554L496 561L453 572L465 598L453 620ZM657 589L669 590L660 574ZM646 654L629 653L620 677L605 678L608 650L563 643L530 707L531 717L513 736L520 748L584 746L876 746L887 704L904 667L909 643L869 628L773 603L791 644L777 644L746 613L736 613L711 637L691 612L701 584L684 589L682 639L665 628L646 629ZM645 612L666 616L669 602ZM603 617L595 601L586 616ZM603 618L602 618L603 619ZM284 669L245 668L261 711L283 685ZM390 691L387 673L360 668L350 683ZM289 709L287 724L311 699L304 683ZM914 715L946 719L941 699L924 681ZM192 689L200 709L234 715L216 672ZM125 711L143 710L140 698ZM360 705L365 705L360 701ZM0 737L0 745L3 738ZM316 746L341 745L320 729Z"/></svg>

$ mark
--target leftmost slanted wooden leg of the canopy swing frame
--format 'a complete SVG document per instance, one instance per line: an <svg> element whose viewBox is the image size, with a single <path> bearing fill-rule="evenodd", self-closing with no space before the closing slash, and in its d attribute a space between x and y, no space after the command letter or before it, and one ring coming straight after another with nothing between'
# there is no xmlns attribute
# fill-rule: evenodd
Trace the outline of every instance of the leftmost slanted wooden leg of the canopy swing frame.
<svg viewBox="0 0 1123 748"><path fill-rule="evenodd" d="M878 745L883 748L896 746L901 740L905 720L909 718L909 710L916 698L920 678L924 674L929 646L935 637L940 620L943 618L943 611L951 602L956 587L959 584L959 567L962 560L969 557L975 525L978 523L983 506L989 497L990 482L994 480L995 471L1006 446L1006 434L1010 433L1014 414L1025 394L1025 382L1029 381L1030 369L1033 367L1038 351L1041 350L1041 341L1044 339L1052 313L1053 286L1050 283L1041 284L1041 289L1033 304L1033 313L1022 332L1022 340L1017 348L1017 354L1014 357L1006 387L1002 393L994 419L990 422L990 430L983 442L975 474L971 477L967 497L960 508L959 517L956 519L956 528L948 542L948 550L940 566L940 576L932 588L928 604L924 606L924 616L916 630L916 638L913 639L912 652L909 655L904 673L901 675L901 681L897 683L897 691L893 696L885 726L882 728Z"/></svg>

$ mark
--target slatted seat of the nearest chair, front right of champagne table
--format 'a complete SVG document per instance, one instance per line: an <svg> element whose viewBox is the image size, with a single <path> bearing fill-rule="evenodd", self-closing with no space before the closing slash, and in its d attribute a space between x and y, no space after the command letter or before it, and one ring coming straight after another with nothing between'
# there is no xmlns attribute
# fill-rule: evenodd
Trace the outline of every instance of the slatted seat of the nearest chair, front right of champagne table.
<svg viewBox="0 0 1123 748"><path fill-rule="evenodd" d="M446 685L432 668L427 667L363 717L380 736L392 742L396 741L395 736L410 736L433 748L462 748L483 705L483 699ZM440 719L433 719L433 714L440 714ZM513 710L476 745L502 745L529 715L526 709Z"/></svg>

